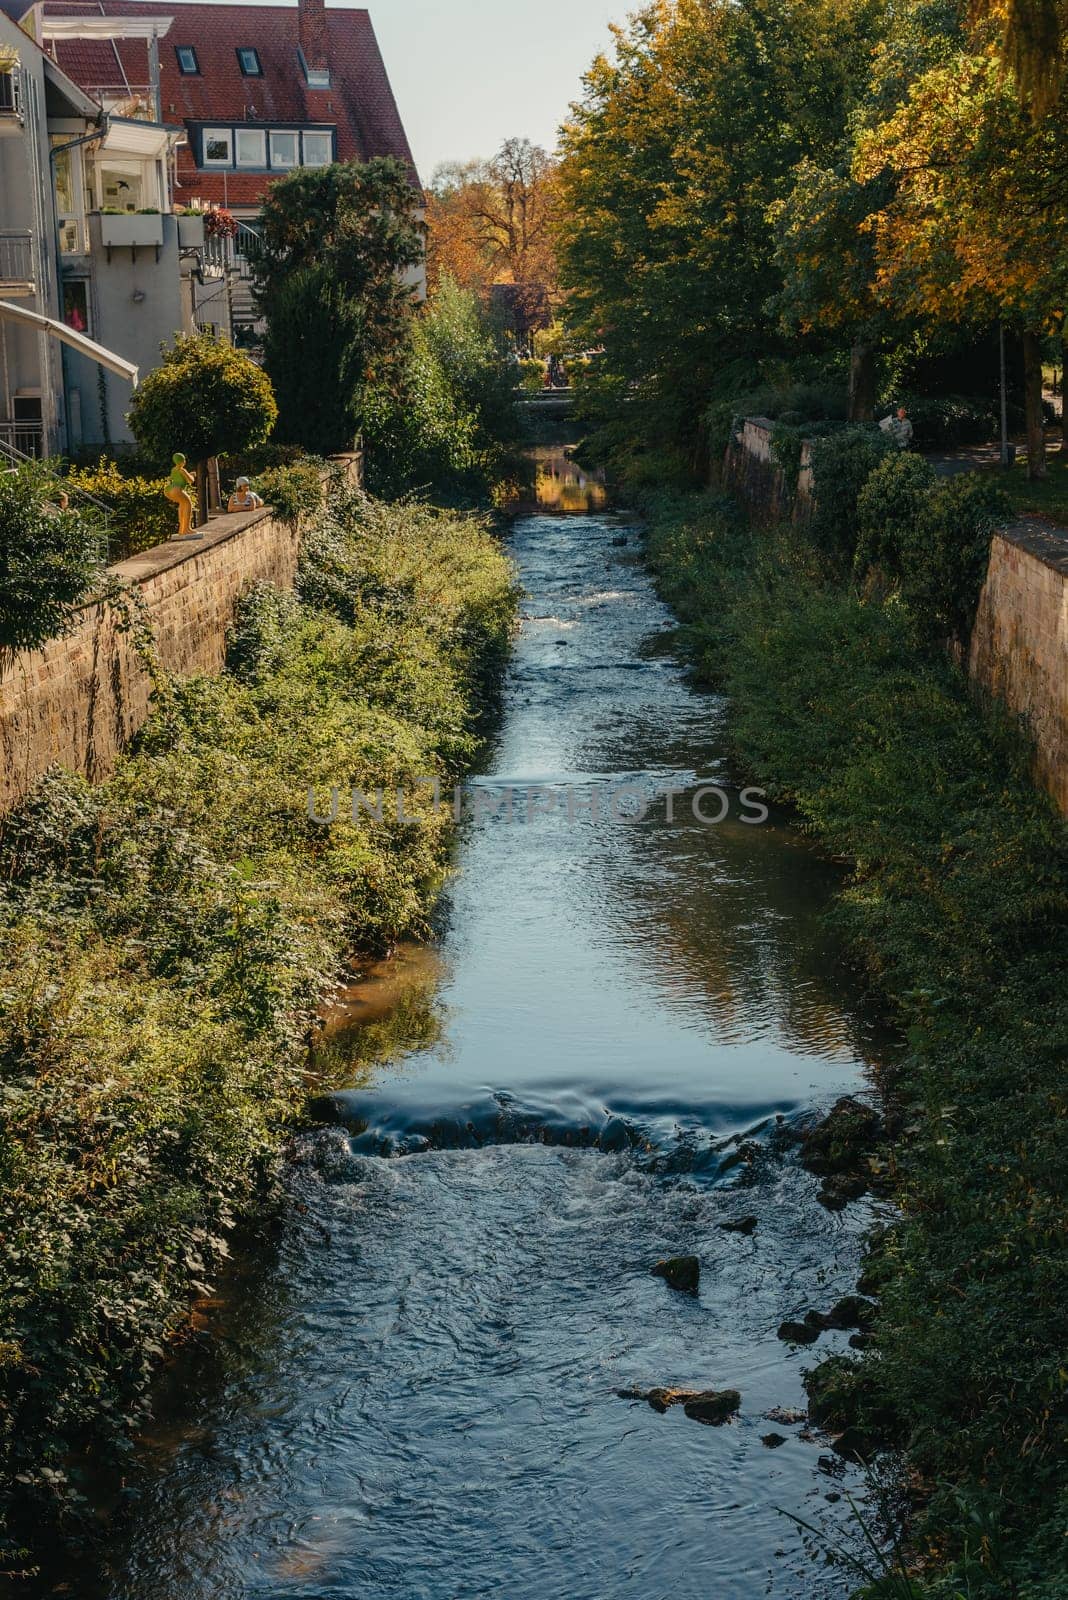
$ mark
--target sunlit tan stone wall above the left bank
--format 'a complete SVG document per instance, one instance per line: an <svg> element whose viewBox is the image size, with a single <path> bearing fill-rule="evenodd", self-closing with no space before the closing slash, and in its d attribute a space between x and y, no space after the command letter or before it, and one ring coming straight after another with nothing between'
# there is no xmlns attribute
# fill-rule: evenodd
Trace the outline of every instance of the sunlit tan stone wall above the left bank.
<svg viewBox="0 0 1068 1600"><path fill-rule="evenodd" d="M360 456L336 466L360 483ZM203 539L158 544L112 571L141 589L168 672L221 672L238 595L257 581L291 589L299 542L297 523L264 507L213 517ZM145 720L150 694L133 640L106 605L85 606L64 638L16 656L0 680L0 811L53 765L106 776Z"/></svg>

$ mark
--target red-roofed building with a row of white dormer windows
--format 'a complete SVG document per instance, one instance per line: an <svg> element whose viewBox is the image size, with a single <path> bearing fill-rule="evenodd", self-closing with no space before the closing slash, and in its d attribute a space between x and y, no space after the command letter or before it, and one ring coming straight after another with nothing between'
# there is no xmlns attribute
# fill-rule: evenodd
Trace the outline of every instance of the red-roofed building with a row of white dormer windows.
<svg viewBox="0 0 1068 1600"><path fill-rule="evenodd" d="M40 0L27 14L62 70L106 107L155 104L177 125L174 205L222 208L237 219L237 275L198 322L254 326L248 256L264 190L301 166L401 160L419 178L365 10L205 5L176 0ZM145 32L136 32L139 24ZM122 26L122 30L120 30ZM149 32L152 30L152 32ZM425 272L412 274L425 293ZM214 314L209 307L214 306Z"/></svg>

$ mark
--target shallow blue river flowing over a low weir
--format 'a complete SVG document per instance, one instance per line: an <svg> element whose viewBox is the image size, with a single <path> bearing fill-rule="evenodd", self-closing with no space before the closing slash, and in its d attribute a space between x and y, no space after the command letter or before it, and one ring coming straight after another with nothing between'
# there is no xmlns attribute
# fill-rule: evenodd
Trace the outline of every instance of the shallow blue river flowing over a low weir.
<svg viewBox="0 0 1068 1600"><path fill-rule="evenodd" d="M833 1526L855 1474L766 1414L811 1362L777 1325L852 1288L863 1222L790 1142L878 1040L820 920L833 869L743 819L724 706L664 648L627 518L523 517L512 544L523 632L440 946L329 1018L353 1086L144 1445L109 1600L849 1589L782 1510ZM612 819L620 784L686 794ZM751 1235L721 1227L742 1214ZM681 1251L697 1298L649 1274ZM711 1427L620 1395L657 1384L742 1408Z"/></svg>

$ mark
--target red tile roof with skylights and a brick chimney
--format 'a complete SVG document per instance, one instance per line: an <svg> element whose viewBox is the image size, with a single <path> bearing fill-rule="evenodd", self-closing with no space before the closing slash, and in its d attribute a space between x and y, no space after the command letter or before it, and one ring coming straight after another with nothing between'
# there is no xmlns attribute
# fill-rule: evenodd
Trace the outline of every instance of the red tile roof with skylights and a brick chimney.
<svg viewBox="0 0 1068 1600"><path fill-rule="evenodd" d="M171 16L174 24L160 40L160 94L163 122L201 123L317 123L337 128L337 160L369 160L395 155L417 184L408 136L385 74L371 18L366 11L326 11L331 85L309 88L297 58L297 8L265 5L171 5L137 0L48 0L58 16ZM182 74L176 45L193 45L198 75ZM262 77L246 78L237 51L259 51ZM85 90L149 82L147 46L142 40L56 40L48 46L56 61ZM254 206L270 182L264 173L201 171L193 150L177 157L176 200L214 200Z"/></svg>

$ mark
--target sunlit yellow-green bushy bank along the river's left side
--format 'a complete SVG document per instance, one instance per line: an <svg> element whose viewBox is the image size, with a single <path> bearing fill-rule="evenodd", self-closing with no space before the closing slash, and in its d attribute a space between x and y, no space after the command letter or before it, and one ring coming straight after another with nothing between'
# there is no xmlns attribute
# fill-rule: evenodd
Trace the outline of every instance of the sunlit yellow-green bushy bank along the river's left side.
<svg viewBox="0 0 1068 1600"><path fill-rule="evenodd" d="M515 608L480 520L342 494L297 594L240 603L224 675L165 683L107 782L58 771L3 819L6 1570L27 1520L77 1517L90 1453L122 1461L269 1203L344 958L425 931L451 821L420 781L478 749ZM390 800L326 829L310 786Z"/></svg>

